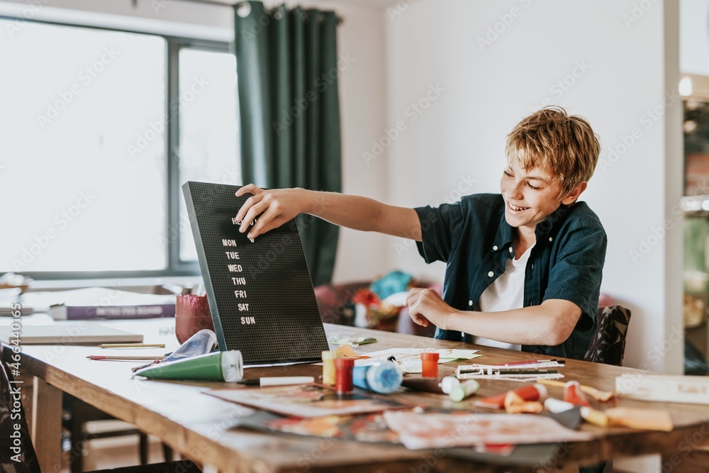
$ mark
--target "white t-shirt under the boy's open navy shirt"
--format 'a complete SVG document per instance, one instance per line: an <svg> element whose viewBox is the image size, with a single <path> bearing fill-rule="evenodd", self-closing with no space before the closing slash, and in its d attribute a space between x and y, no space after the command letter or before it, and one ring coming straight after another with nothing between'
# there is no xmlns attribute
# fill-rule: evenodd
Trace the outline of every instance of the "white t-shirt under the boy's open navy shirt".
<svg viewBox="0 0 709 473"><path fill-rule="evenodd" d="M505 272L495 279L495 282L487 286L480 296L476 311L481 312L501 312L510 311L513 308L523 308L525 306L525 271L527 260L534 245L527 248L518 260L510 258L505 263ZM485 345L487 347L500 347L508 350L522 350L522 345L498 342L484 337L473 337L473 343Z"/></svg>

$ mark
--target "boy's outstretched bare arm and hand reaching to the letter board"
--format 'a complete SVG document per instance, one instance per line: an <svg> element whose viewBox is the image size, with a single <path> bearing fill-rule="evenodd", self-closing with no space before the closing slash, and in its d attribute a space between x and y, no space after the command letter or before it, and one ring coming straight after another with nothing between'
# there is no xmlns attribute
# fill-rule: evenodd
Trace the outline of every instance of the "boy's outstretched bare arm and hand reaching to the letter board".
<svg viewBox="0 0 709 473"><path fill-rule="evenodd" d="M259 189L254 184L241 187L236 196L253 194L236 214L239 230L249 230L255 238L277 228L298 213L309 213L335 225L354 230L376 231L412 240L421 240L421 224L413 208L382 204L362 196L306 189ZM249 223L257 218L254 226Z"/></svg>

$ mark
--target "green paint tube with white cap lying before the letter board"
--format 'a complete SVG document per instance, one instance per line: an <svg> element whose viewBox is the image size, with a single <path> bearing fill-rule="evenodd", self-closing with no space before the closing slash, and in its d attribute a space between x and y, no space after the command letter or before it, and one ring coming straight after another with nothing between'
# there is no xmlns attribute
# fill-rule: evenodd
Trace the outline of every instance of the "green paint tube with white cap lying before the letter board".
<svg viewBox="0 0 709 473"><path fill-rule="evenodd" d="M174 362L156 363L135 372L150 379L196 379L201 381L240 381L244 362L239 350L206 353Z"/></svg>

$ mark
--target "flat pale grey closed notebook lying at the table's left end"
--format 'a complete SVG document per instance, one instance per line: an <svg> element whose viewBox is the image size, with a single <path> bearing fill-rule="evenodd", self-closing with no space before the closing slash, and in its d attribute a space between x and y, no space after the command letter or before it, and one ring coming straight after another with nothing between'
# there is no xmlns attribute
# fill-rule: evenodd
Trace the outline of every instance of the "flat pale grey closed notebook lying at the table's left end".
<svg viewBox="0 0 709 473"><path fill-rule="evenodd" d="M16 341L18 340L19 341ZM89 343L141 343L143 335L94 322L56 322L23 325L20 330L0 328L0 340L8 345L82 345Z"/></svg>

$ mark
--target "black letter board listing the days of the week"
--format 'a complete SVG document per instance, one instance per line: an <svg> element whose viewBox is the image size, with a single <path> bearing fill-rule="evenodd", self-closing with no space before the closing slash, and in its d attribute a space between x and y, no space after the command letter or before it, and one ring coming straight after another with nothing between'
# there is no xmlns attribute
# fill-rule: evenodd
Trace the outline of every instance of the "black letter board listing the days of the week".
<svg viewBox="0 0 709 473"><path fill-rule="evenodd" d="M319 361L328 350L296 221L251 241L238 186L186 182L189 222L220 350L245 365Z"/></svg>

